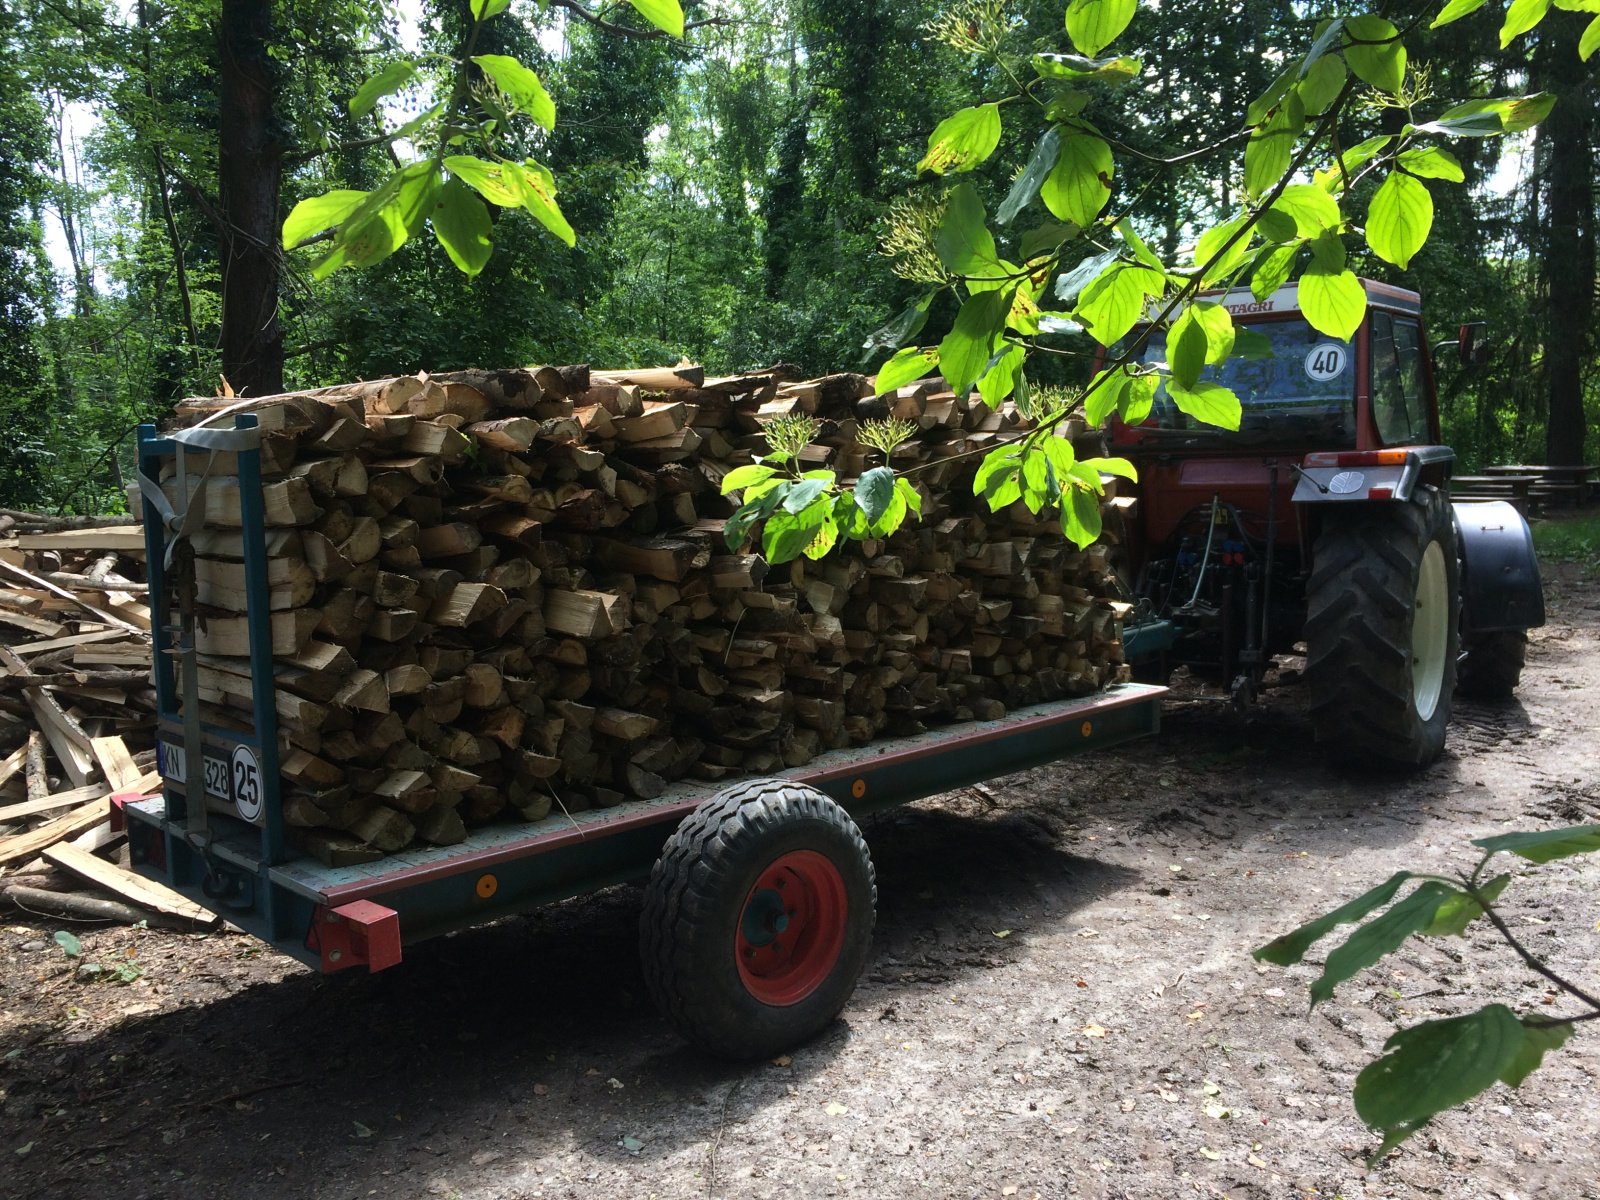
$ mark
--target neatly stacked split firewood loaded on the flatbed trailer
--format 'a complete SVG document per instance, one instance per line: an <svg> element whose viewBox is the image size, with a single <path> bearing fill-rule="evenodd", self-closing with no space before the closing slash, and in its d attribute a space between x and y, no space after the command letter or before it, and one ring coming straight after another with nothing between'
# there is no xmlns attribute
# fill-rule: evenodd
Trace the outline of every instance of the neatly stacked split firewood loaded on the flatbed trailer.
<svg viewBox="0 0 1600 1200"><path fill-rule="evenodd" d="M1021 418L939 387L872 398L856 374L546 366L184 402L179 424L251 411L264 430L299 843L341 864L450 845L493 818L800 766L1118 678L1106 547L974 501L979 459L958 456ZM922 520L821 562L730 550L720 482L790 413L819 422L800 466L845 478L878 459L858 421L915 421L893 466L923 467ZM216 454L194 539L219 723L251 694L235 469ZM190 488L203 470L190 456Z"/></svg>

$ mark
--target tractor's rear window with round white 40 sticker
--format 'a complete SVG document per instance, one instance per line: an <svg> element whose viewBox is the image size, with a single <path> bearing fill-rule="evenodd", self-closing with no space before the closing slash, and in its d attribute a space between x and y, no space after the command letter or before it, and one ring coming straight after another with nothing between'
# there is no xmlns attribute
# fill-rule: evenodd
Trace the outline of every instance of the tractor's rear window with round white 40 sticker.
<svg viewBox="0 0 1600 1200"><path fill-rule="evenodd" d="M1251 358L1229 358L1208 366L1202 379L1238 397L1238 432L1202 424L1166 395L1155 394L1150 421L1141 438L1182 445L1285 445L1338 450L1355 445L1355 362L1350 344L1317 333L1304 320L1240 323L1270 346ZM1144 362L1165 363L1166 334L1160 330L1144 347Z"/></svg>

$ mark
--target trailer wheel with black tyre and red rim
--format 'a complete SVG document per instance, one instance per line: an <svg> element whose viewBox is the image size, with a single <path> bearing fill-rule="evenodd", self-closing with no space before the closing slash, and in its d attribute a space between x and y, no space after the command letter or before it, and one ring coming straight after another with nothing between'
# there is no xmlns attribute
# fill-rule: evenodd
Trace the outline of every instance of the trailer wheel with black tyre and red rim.
<svg viewBox="0 0 1600 1200"><path fill-rule="evenodd" d="M770 1058L821 1032L867 960L877 882L867 843L822 792L752 779L667 840L645 893L645 982L712 1054Z"/></svg>

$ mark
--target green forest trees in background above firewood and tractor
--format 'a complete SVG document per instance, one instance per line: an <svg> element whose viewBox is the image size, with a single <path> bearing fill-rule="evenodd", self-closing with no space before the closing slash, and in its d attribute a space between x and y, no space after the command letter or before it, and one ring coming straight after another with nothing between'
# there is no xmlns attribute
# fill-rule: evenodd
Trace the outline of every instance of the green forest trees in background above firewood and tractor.
<svg viewBox="0 0 1600 1200"><path fill-rule="evenodd" d="M930 133L1013 90L952 27L1000 21L1024 54L1070 53L1062 8L717 0L685 5L677 40L626 6L518 3L472 53L515 58L547 90L554 128L507 122L504 136L549 168L574 243L491 205L493 253L475 275L413 237L376 266L317 277L315 253L280 250L283 219L394 173L384 123L424 115L450 86L446 59L474 26L464 0L426 3L414 29L363 0L0 0L0 502L118 506L128 430L224 373L259 394L533 362L859 366L874 330L925 291L918 221L954 182L918 176ZM1451 144L1466 186L1432 189L1432 235L1406 270L1357 242L1350 266L1419 288L1435 338L1490 323L1488 370L1440 378L1446 437L1469 462L1594 456L1590 5L1558 2L1581 11L1504 50L1499 3L1435 30L1442 3L1390 8L1422 14L1406 42L1426 72L1406 90L1432 110L1534 91L1557 104L1520 138ZM1237 206L1230 142L1315 18L1357 11L1138 11L1118 46L1141 56L1139 78L1099 90L1085 115L1117 147L1118 195L1138 198L1134 224L1162 259ZM397 62L419 82L352 115L362 85ZM1400 122L1373 96L1341 118L1341 141ZM995 154L962 176L989 211L1037 134L1006 120ZM1208 146L1221 149L1155 163ZM954 317L936 299L922 338ZM1086 379L1080 341L1061 342L1078 354L1053 357L1040 382ZM1578 403L1552 416L1552 395Z"/></svg>

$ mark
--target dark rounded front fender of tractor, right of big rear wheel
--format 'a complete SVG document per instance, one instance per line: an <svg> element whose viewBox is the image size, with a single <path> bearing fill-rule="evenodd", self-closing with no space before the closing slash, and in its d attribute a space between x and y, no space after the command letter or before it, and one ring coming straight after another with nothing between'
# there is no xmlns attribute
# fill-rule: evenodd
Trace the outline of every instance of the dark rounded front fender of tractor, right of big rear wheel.
<svg viewBox="0 0 1600 1200"><path fill-rule="evenodd" d="M1461 626L1474 634L1544 624L1544 586L1528 522L1506 501L1459 501Z"/></svg>

